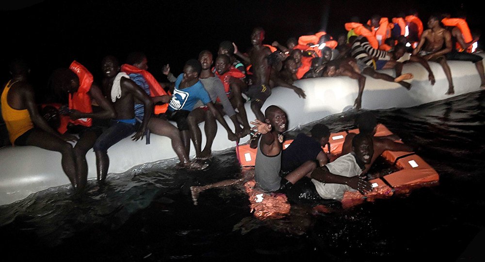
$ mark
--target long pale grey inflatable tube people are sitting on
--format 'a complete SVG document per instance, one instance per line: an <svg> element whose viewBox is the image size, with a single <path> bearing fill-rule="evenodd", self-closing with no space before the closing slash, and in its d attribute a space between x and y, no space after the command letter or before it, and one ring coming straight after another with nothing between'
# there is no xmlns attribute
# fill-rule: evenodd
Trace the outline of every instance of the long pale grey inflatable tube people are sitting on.
<svg viewBox="0 0 485 262"><path fill-rule="evenodd" d="M485 57L484 53L479 53ZM397 83L367 77L362 96L362 109L407 108L426 104L453 96L480 90L480 77L472 62L449 61L452 71L455 93L445 95L448 81L441 66L430 62L436 78L432 86L428 80L427 71L419 63L405 64L403 73L412 73L414 78L407 80L412 84L411 90L406 90ZM380 70L394 76L393 70ZM302 88L306 99L299 98L290 89L277 87L266 100L262 111L269 105L276 105L288 114L289 130L329 115L352 109L357 96L357 81L349 77L319 77L298 80L294 84ZM246 103L249 121L255 115ZM225 116L231 128L232 122ZM204 130L203 123L200 124ZM234 129L233 129L234 130ZM204 132L202 132L203 134ZM242 138L240 143L249 140ZM203 136L202 146L205 144ZM218 123L218 132L212 146L213 151L235 147L233 141L227 139L227 133ZM194 155L194 147L191 155ZM172 150L170 139L152 134L150 144L145 138L132 141L129 138L121 140L108 150L110 157L109 173L121 173L145 163L177 157ZM94 152L86 154L89 173L88 178L96 178L96 160ZM108 175L109 179L109 175ZM61 168L61 154L33 146L6 147L0 149L0 205L22 200L32 193L52 186L67 185L69 180Z"/></svg>

